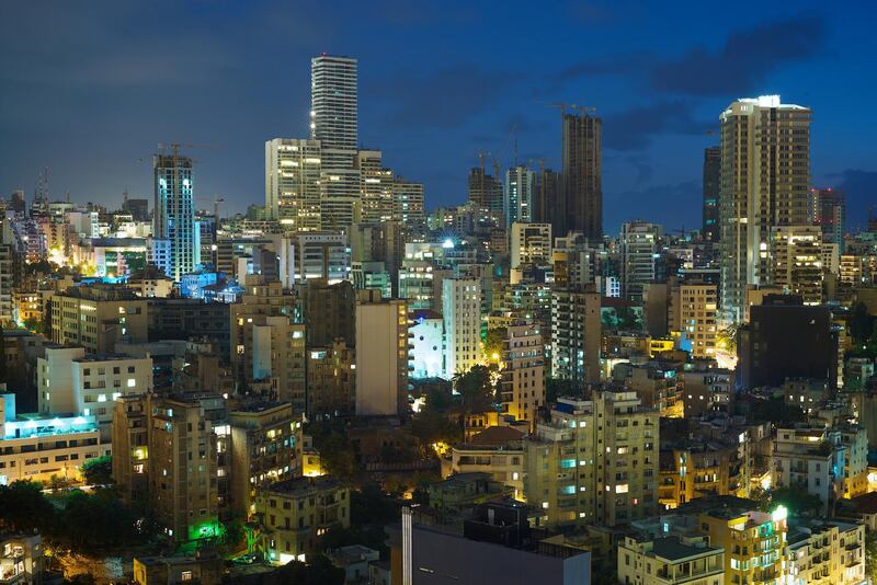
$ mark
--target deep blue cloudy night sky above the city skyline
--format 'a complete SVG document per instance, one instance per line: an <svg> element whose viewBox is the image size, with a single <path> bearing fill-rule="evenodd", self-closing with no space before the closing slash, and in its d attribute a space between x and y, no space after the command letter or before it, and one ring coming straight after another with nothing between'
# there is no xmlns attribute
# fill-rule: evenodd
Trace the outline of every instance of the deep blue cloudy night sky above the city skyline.
<svg viewBox="0 0 877 585"><path fill-rule="evenodd" d="M794 5L794 10L791 7ZM816 186L877 203L872 2L3 1L0 192L151 200L158 142L208 145L200 206L264 204L264 141L307 137L310 58L360 59L360 139L463 203L479 151L559 168L553 102L596 106L605 229L699 227L703 149L732 100L810 106ZM140 160L144 159L144 160ZM150 203L151 207L151 203Z"/></svg>

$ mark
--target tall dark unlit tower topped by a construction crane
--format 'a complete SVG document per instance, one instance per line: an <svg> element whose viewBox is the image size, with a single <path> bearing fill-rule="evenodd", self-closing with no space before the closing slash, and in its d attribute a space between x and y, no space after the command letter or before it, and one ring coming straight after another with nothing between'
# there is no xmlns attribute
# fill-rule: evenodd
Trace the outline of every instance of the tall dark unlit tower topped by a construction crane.
<svg viewBox="0 0 877 585"><path fill-rule="evenodd" d="M603 121L588 114L562 113L563 171L561 197L566 216L557 233L580 231L589 242L603 240ZM562 221L560 221L562 219Z"/></svg>

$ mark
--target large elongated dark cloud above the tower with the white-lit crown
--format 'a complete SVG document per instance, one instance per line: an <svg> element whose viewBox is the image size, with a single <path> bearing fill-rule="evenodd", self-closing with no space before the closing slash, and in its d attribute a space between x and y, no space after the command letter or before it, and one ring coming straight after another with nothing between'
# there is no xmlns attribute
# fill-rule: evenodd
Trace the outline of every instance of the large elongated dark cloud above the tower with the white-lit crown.
<svg viewBox="0 0 877 585"><path fill-rule="evenodd" d="M654 66L649 84L691 95L728 95L758 90L779 67L806 61L822 49L825 25L817 15L798 15L731 34L717 51L705 47Z"/></svg>

